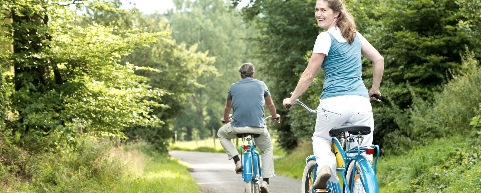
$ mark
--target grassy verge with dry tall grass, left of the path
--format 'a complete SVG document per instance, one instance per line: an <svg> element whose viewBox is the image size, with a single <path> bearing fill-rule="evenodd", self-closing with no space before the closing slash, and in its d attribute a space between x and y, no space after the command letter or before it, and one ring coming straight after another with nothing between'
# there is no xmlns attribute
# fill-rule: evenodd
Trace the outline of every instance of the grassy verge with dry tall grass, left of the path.
<svg viewBox="0 0 481 193"><path fill-rule="evenodd" d="M186 166L151 149L142 142L112 148L111 143L86 141L71 152L21 152L30 157L23 170L0 162L0 192L199 193Z"/></svg>

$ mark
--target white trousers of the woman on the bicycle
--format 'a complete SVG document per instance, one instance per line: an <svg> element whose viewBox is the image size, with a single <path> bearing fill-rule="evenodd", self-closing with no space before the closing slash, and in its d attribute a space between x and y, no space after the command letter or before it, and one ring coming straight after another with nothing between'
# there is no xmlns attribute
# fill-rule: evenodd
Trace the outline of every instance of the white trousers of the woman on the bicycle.
<svg viewBox="0 0 481 193"><path fill-rule="evenodd" d="M329 180L332 182L339 182L339 179L336 172L336 157L331 152L332 137L329 136L329 130L343 125L369 126L371 133L363 136L362 145L372 144L374 118L368 98L346 95L319 100L312 149L318 165L317 172L322 166L329 166L331 169ZM357 142L354 143L357 145ZM372 155L368 158L372 160Z"/></svg>

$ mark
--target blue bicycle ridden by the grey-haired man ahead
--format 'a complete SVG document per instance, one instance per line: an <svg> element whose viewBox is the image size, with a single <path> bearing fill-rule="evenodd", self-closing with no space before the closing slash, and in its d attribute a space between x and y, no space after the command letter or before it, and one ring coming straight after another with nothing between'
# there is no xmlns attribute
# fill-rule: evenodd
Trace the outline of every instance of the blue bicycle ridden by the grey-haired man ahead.
<svg viewBox="0 0 481 193"><path fill-rule="evenodd" d="M229 115L230 116L230 115ZM264 118L264 123L271 116ZM244 193L260 193L260 178L262 177L261 159L259 152L255 150L254 138L259 137L259 134L255 133L239 133L238 138L242 138L242 142L247 142L246 145L241 145L241 160L242 160L242 180L245 183Z"/></svg>

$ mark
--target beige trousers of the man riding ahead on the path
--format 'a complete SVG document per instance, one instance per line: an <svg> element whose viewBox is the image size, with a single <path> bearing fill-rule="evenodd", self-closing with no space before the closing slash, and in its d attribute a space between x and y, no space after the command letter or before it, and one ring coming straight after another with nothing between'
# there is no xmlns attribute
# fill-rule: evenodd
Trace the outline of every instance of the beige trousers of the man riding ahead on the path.
<svg viewBox="0 0 481 193"><path fill-rule="evenodd" d="M259 137L254 138L255 146L261 150L261 165L262 165L262 178L270 178L276 176L274 174L274 146L270 138L269 130L267 128L257 127L233 127L230 123L225 124L217 131L217 137L219 137L220 144L226 150L229 159L239 154L238 149L231 141L236 139L238 133L254 133L260 134ZM239 156L239 158L241 158Z"/></svg>

